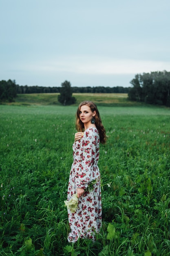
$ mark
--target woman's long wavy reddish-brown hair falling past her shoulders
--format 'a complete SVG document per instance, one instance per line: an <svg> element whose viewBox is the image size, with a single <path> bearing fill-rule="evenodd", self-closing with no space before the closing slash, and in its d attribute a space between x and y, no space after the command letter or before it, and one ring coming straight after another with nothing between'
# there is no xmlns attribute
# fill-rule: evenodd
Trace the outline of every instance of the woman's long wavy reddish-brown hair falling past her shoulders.
<svg viewBox="0 0 170 256"><path fill-rule="evenodd" d="M95 105L95 103L93 101L83 101L82 103L79 104L78 108L77 108L77 113L76 113L76 124L75 124L75 128L78 132L84 132L84 124L82 123L82 121L79 118L79 114L80 114L80 108L84 105L87 105L88 107L91 108L91 111L96 111L96 115L94 117L95 119L95 126L99 132L99 137L100 137L100 142L102 144L106 143L106 130L104 129L104 126L102 125L102 120L100 118L100 114L99 114L99 110L97 109L97 106Z"/></svg>

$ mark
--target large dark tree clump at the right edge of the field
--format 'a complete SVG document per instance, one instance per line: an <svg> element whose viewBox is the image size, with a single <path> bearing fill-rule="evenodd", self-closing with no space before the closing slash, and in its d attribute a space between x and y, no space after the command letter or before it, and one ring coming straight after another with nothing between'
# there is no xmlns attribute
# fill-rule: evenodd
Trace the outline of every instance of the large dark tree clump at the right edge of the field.
<svg viewBox="0 0 170 256"><path fill-rule="evenodd" d="M137 74L130 83L130 100L170 107L170 72Z"/></svg>

